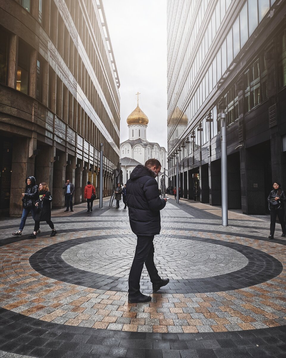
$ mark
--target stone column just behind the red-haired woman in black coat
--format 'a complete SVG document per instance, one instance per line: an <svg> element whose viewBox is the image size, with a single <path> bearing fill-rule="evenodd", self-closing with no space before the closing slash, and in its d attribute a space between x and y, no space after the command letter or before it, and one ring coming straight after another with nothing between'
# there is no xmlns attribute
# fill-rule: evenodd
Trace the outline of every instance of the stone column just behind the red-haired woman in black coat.
<svg viewBox="0 0 286 358"><path fill-rule="evenodd" d="M50 146L40 146L40 153L37 155L36 182L46 182L52 194L54 156L56 148Z"/></svg>

